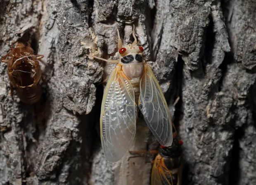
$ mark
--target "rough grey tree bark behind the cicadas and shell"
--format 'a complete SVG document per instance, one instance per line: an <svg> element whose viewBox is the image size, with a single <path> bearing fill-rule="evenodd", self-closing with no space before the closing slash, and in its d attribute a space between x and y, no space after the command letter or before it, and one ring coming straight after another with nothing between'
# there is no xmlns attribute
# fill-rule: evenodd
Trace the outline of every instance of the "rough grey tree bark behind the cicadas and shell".
<svg viewBox="0 0 256 185"><path fill-rule="evenodd" d="M183 140L183 185L256 184L254 0L0 0L0 55L17 39L44 55L43 96L9 95L0 64L0 185L148 185L152 155L111 164L100 83L132 25ZM14 91L15 92L15 91ZM178 104L173 102L180 97ZM157 149L143 116L131 150Z"/></svg>

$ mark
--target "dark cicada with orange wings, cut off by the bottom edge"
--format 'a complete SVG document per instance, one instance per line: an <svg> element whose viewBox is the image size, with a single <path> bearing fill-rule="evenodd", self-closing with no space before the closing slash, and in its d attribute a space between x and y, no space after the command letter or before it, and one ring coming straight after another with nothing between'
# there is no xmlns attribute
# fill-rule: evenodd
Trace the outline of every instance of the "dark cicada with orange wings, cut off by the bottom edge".
<svg viewBox="0 0 256 185"><path fill-rule="evenodd" d="M177 137L169 147L161 146L154 160L151 185L181 185L183 154L182 141Z"/></svg>

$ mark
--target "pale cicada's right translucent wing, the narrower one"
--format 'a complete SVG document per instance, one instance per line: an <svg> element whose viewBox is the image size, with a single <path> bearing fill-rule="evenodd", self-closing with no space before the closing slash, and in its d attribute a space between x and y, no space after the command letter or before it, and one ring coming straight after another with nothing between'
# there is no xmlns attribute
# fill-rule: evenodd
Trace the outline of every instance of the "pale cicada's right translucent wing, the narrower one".
<svg viewBox="0 0 256 185"><path fill-rule="evenodd" d="M159 143L162 146L171 146L173 142L171 114L159 83L147 64L140 81L139 108Z"/></svg>

